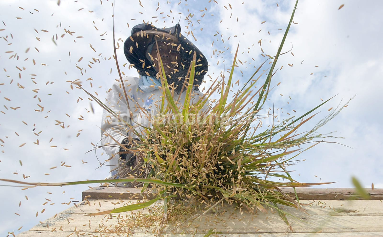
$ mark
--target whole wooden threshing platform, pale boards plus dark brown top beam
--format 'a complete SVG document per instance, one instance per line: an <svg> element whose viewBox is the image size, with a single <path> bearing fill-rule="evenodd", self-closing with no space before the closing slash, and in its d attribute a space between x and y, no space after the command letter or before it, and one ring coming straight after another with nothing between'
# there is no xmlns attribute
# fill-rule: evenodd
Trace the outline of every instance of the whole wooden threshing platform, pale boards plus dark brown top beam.
<svg viewBox="0 0 383 237"><path fill-rule="evenodd" d="M86 199L82 205L72 206L38 224L18 237L67 237L67 236L158 236L153 233L155 227L145 229L131 228L130 234L113 233L113 229L121 228L119 220L126 220L126 213L100 216L85 214L111 210L137 200L151 198L149 194L140 194L140 189L121 187L95 187L82 193ZM168 226L160 236L169 237L203 237L210 230L214 236L226 237L375 237L383 236L383 189L367 190L370 200L356 199L354 189L297 189L300 202L306 213L294 208L283 207L296 218L289 218L291 228L280 218L277 212L267 214L258 211L249 214L246 211L234 210L232 207L211 211L203 218L193 218L181 227ZM292 190L289 189L292 195ZM154 204L155 205L155 204ZM159 205L159 204L157 204ZM243 211L243 212L242 212ZM130 218L134 213L129 212ZM150 209L141 211L150 213ZM124 216L124 217L122 217ZM157 228L159 229L159 228ZM167 234L170 233L170 234Z"/></svg>

